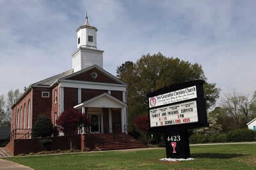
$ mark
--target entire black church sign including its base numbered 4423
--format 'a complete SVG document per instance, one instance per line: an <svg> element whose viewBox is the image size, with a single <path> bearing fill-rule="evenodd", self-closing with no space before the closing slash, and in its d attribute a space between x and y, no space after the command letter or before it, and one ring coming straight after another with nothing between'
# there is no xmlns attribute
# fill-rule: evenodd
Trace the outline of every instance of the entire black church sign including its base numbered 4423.
<svg viewBox="0 0 256 170"><path fill-rule="evenodd" d="M209 126L204 83L188 81L147 95L150 131L164 133L168 158L190 157L188 130Z"/></svg>

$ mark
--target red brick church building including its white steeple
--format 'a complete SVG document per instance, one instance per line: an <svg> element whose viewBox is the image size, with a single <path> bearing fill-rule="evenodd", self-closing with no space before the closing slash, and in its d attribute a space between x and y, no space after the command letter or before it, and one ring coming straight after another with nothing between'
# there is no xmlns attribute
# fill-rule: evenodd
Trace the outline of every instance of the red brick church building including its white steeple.
<svg viewBox="0 0 256 170"><path fill-rule="evenodd" d="M83 129L83 134L92 129L99 134L113 129L126 133L127 85L103 69L103 52L97 49L97 28L88 23L86 15L85 24L77 29L72 69L29 85L12 106L14 138L29 133L42 113L56 125L61 113L72 109L87 113L96 122L90 130Z"/></svg>

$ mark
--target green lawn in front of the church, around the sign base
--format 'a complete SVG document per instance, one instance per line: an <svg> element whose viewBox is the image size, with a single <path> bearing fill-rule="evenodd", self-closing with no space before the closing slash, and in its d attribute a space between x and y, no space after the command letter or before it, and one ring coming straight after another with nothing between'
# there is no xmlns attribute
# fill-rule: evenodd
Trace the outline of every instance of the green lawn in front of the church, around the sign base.
<svg viewBox="0 0 256 170"><path fill-rule="evenodd" d="M256 144L191 146L195 160L166 162L165 148L4 158L34 169L256 169Z"/></svg>

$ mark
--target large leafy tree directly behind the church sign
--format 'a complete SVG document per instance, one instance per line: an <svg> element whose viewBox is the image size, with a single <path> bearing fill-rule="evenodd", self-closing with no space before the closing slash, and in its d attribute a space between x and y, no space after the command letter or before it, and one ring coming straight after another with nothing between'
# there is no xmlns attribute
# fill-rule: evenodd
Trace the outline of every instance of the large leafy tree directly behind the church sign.
<svg viewBox="0 0 256 170"><path fill-rule="evenodd" d="M162 53L142 55L135 63L125 62L116 70L117 77L127 83L129 124L138 115L147 114L147 94L154 90L191 80L207 80L202 66ZM214 106L220 89L214 83L205 83L207 109Z"/></svg>

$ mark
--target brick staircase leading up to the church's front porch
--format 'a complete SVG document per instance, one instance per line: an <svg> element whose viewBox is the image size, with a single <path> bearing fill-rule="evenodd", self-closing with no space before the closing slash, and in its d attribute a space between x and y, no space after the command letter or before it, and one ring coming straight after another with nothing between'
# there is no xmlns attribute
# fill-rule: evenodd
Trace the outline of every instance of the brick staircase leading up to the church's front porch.
<svg viewBox="0 0 256 170"><path fill-rule="evenodd" d="M147 148L148 146L132 138L129 134L97 134L95 146L99 150L125 150Z"/></svg>

